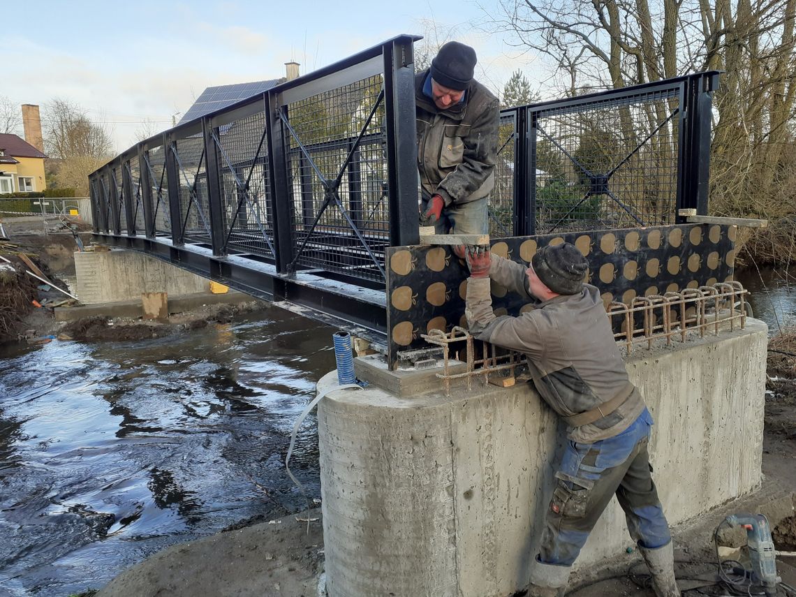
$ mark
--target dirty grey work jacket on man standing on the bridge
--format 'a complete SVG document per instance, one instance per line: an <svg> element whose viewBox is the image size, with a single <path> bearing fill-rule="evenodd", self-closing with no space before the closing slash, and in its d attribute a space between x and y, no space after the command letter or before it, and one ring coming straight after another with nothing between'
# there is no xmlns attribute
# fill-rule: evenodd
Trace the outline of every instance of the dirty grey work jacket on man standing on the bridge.
<svg viewBox="0 0 796 597"><path fill-rule="evenodd" d="M486 197L495 185L500 104L473 81L464 102L441 111L423 93L427 73L415 76L420 184L443 197L446 206Z"/></svg>

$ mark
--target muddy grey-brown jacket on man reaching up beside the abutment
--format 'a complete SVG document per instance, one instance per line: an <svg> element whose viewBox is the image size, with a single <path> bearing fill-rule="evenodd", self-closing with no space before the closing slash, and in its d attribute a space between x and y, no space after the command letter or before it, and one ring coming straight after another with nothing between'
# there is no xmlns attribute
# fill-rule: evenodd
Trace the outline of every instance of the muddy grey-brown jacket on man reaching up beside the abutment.
<svg viewBox="0 0 796 597"><path fill-rule="evenodd" d="M525 267L520 263L493 255L490 278L509 291L529 296L525 291ZM535 309L519 317L496 317L490 279L470 278L466 317L476 338L529 357L537 392L560 416L590 411L621 392L630 394L603 419L570 428L570 439L593 443L613 437L644 410L641 393L627 377L597 288L584 284L578 295L538 302Z"/></svg>

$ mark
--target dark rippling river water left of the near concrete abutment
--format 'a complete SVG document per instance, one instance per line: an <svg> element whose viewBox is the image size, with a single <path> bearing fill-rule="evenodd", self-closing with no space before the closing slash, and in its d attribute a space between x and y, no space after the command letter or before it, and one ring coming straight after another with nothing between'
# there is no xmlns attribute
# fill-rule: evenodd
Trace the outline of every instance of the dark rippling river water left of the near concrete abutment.
<svg viewBox="0 0 796 597"><path fill-rule="evenodd" d="M276 307L151 341L0 348L0 595L99 588L306 507L284 469L335 330ZM314 416L291 470L317 497Z"/></svg>

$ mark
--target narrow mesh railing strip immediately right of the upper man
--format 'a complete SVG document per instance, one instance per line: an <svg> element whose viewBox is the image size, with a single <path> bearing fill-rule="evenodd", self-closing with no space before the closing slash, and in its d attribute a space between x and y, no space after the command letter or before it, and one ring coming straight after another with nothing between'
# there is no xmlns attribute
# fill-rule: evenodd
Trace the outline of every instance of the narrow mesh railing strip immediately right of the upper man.
<svg viewBox="0 0 796 597"><path fill-rule="evenodd" d="M495 186L489 199L490 236L513 236L514 172L516 170L517 112L501 112L497 129Z"/></svg>

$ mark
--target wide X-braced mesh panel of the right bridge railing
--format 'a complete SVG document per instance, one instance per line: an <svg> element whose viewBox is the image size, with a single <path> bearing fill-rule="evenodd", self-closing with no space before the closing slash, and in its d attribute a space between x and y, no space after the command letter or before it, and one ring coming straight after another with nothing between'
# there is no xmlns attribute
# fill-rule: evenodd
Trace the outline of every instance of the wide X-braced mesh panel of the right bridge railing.
<svg viewBox="0 0 796 597"><path fill-rule="evenodd" d="M537 233L674 224L681 93L530 107Z"/></svg>

